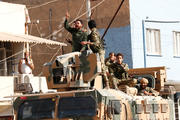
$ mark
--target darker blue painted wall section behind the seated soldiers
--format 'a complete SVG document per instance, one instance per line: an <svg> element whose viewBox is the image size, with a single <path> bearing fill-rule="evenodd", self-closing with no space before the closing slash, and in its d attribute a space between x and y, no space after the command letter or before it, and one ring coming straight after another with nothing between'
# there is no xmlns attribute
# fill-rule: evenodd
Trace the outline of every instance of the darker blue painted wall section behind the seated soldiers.
<svg viewBox="0 0 180 120"><path fill-rule="evenodd" d="M100 29L100 33L103 33L103 31L104 29ZM109 29L105 36L105 43L106 57L110 52L122 53L124 62L129 65L129 68L132 68L130 26Z"/></svg>

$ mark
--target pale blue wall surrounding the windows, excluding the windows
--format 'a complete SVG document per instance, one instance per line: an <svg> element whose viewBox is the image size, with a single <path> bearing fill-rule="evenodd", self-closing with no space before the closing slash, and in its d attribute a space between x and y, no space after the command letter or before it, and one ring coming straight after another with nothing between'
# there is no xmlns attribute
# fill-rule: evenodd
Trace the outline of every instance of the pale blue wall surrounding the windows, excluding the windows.
<svg viewBox="0 0 180 120"><path fill-rule="evenodd" d="M143 50L143 20L156 21L178 21L179 0L130 0L130 20L131 20L131 38L132 38L132 54L133 67L144 67L146 58L146 66L166 66L167 79L179 81L180 74L180 58L173 57L173 34L172 31L179 31L180 24L177 23L157 23L145 22L144 29L156 28L160 29L161 34L161 51L162 56L144 57ZM145 31L146 33L146 31ZM145 35L145 34L144 34ZM146 37L146 36L145 36ZM146 47L146 46L145 46Z"/></svg>

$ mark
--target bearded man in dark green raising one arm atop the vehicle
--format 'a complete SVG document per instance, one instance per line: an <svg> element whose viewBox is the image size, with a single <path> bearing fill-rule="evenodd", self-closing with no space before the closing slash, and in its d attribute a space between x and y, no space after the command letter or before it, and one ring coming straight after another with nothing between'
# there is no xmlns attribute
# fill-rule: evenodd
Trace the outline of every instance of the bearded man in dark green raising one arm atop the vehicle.
<svg viewBox="0 0 180 120"><path fill-rule="evenodd" d="M82 41L87 41L87 33L82 30L83 22L82 20L76 20L74 22L74 27L70 27L68 23L69 13L66 13L66 19L64 22L64 28L72 34L72 52L81 52L86 49L86 45L82 45Z"/></svg>

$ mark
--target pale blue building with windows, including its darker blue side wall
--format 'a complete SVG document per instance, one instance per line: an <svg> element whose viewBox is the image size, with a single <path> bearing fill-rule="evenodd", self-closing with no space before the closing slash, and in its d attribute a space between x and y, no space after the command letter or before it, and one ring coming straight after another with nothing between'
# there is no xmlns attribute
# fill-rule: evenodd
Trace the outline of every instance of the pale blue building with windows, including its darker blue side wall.
<svg viewBox="0 0 180 120"><path fill-rule="evenodd" d="M129 5L124 6L130 11L127 20L130 22L109 30L105 37L107 51L122 52L131 68L166 66L167 79L179 81L179 3L178 0L129 0Z"/></svg>

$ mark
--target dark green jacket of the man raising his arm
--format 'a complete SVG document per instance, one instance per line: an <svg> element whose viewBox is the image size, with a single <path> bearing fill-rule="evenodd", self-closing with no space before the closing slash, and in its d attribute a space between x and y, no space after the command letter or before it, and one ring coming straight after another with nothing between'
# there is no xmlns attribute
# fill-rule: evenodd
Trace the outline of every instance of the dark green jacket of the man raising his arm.
<svg viewBox="0 0 180 120"><path fill-rule="evenodd" d="M83 51L87 45L81 45L82 41L87 41L88 35L86 32L72 28L69 26L67 19L64 22L64 28L72 34L72 51Z"/></svg>

